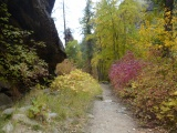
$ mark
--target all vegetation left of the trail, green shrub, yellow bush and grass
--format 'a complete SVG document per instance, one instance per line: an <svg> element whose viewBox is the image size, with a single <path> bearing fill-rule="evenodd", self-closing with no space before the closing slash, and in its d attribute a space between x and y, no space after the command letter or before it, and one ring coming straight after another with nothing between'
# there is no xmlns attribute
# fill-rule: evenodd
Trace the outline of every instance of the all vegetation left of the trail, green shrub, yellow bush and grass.
<svg viewBox="0 0 177 133"><path fill-rule="evenodd" d="M29 40L32 31L10 25L7 6L0 7L0 83L9 85L15 101L0 111L0 132L82 132L93 100L102 93L98 82L76 69L75 53L49 80L48 64L37 54L45 44Z"/></svg>

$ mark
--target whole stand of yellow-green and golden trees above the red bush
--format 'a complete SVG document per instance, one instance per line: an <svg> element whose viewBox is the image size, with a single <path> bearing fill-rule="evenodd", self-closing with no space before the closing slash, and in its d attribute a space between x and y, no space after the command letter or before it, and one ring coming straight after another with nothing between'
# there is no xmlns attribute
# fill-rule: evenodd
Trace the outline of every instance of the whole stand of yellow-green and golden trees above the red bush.
<svg viewBox="0 0 177 133"><path fill-rule="evenodd" d="M81 51L87 72L96 69L98 79L106 80L111 64L126 51L147 58L154 51L169 57L170 50L177 49L174 0L156 2L156 10L148 12L145 3L135 0L101 0L93 12L92 1L87 0L81 21Z"/></svg>

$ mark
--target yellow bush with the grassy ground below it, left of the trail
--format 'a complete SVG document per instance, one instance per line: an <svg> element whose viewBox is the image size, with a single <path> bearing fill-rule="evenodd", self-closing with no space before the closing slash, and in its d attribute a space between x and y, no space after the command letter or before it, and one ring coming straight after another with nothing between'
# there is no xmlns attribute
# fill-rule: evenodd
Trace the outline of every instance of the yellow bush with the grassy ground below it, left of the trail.
<svg viewBox="0 0 177 133"><path fill-rule="evenodd" d="M95 95L101 93L96 80L74 70L55 78L50 89L37 85L17 106L31 104L27 115L45 125L43 127L49 132L51 127L60 132L81 132ZM48 120L48 113L56 113L58 116Z"/></svg>

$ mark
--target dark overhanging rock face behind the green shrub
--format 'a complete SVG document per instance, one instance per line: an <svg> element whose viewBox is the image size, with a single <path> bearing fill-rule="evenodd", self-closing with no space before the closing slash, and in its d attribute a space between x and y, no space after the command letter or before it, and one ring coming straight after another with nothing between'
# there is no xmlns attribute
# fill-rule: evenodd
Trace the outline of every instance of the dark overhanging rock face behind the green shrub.
<svg viewBox="0 0 177 133"><path fill-rule="evenodd" d="M0 0L3 1L3 0ZM54 73L56 63L66 55L51 12L55 0L7 0L11 13L10 22L22 30L34 31L33 39L45 42L45 48L38 49L41 59L49 63L50 73Z"/></svg>

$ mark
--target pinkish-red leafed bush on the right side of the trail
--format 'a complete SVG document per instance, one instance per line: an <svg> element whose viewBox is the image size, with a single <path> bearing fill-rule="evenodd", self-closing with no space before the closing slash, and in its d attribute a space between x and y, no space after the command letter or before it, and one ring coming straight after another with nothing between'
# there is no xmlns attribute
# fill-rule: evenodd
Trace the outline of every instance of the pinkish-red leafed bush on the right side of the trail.
<svg viewBox="0 0 177 133"><path fill-rule="evenodd" d="M137 60L133 52L127 52L121 60L112 64L108 76L114 89L123 89L135 79L145 63Z"/></svg>

